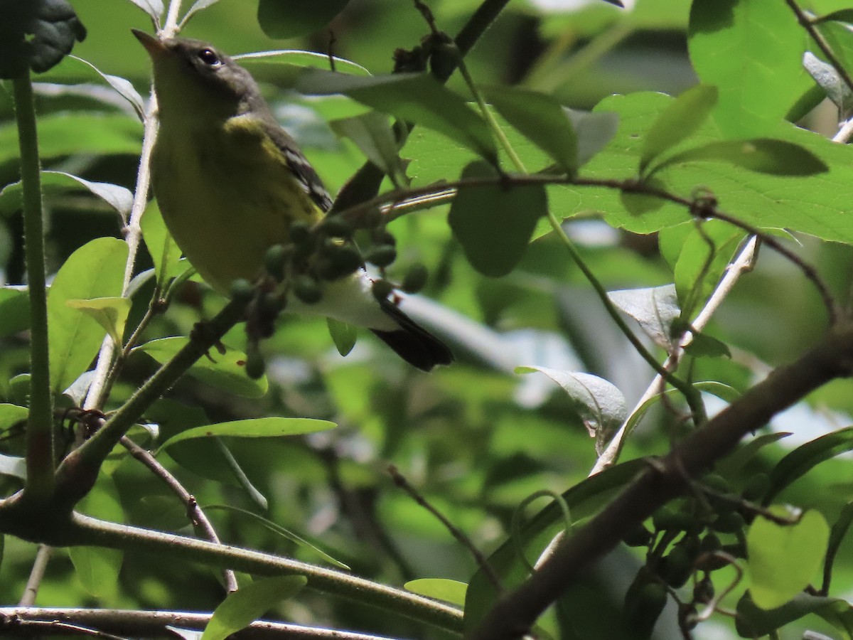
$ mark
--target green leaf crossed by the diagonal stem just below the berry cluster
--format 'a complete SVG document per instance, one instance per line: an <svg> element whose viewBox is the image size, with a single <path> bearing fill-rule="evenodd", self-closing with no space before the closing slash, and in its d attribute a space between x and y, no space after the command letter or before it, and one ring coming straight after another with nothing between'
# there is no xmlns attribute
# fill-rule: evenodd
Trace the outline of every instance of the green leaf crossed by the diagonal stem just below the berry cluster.
<svg viewBox="0 0 853 640"><path fill-rule="evenodd" d="M137 346L133 351L148 353L160 364L165 364L183 349L188 338L172 337L151 340ZM253 379L246 375L246 354L225 346L225 352L210 352L209 358L201 358L187 372L196 380L244 398L262 398L270 383L266 376Z"/></svg>

